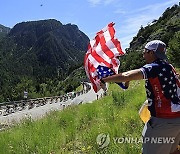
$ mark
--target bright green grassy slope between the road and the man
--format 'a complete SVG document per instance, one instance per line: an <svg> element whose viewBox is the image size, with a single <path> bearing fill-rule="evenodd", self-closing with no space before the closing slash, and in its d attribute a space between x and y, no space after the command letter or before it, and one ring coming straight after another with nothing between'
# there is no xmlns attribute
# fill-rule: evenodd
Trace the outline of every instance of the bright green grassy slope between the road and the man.
<svg viewBox="0 0 180 154"><path fill-rule="evenodd" d="M145 101L143 85L135 81L123 91L111 84L109 95L92 104L68 107L37 121L27 119L0 132L0 153L139 154L141 144L115 143L113 137L141 137L138 110ZM101 133L110 136L110 144L103 149L96 142Z"/></svg>

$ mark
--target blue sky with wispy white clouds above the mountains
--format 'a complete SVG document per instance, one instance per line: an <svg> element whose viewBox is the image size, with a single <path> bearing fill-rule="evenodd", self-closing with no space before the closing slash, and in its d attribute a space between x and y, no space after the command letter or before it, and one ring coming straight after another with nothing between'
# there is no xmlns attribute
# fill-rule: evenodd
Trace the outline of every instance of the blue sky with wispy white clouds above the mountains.
<svg viewBox="0 0 180 154"><path fill-rule="evenodd" d="M78 25L90 39L110 22L123 50L139 28L158 19L179 0L1 0L0 24L12 28L23 21L56 19Z"/></svg>

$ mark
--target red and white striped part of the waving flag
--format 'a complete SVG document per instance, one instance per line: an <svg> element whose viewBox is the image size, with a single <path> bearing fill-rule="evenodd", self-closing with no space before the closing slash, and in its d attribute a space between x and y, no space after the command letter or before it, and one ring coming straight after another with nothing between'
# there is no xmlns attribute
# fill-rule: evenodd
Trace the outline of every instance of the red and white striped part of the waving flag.
<svg viewBox="0 0 180 154"><path fill-rule="evenodd" d="M108 24L90 41L84 58L84 67L95 92L100 90L97 73L98 66L104 66L118 73L120 62L118 57L124 55L121 44L115 38L114 23Z"/></svg>

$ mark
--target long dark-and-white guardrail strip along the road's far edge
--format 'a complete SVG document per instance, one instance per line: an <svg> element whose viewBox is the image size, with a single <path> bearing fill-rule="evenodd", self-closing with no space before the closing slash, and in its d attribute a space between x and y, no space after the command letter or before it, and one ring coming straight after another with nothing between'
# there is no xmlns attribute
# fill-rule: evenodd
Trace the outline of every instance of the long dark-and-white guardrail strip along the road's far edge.
<svg viewBox="0 0 180 154"><path fill-rule="evenodd" d="M77 96L80 96L84 93L87 93L91 86L88 83L84 83L84 90L79 92L70 92L61 96L52 96L52 97L43 97L43 98L35 98L35 99L27 99L20 101L9 101L0 103L0 116L7 116L11 113L15 113L18 111L22 111L25 109L32 109L34 107L43 106L46 104L58 103L58 102L66 102L69 99L74 99Z"/></svg>

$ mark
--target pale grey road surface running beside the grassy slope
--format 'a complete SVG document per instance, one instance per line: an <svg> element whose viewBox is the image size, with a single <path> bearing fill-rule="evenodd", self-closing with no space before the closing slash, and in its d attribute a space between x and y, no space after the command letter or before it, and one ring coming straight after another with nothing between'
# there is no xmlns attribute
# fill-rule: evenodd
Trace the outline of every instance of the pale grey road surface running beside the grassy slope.
<svg viewBox="0 0 180 154"><path fill-rule="evenodd" d="M103 90L101 89L98 93L98 96L100 97L103 94ZM30 110L25 109L22 111L18 111L12 114L9 114L7 116L0 116L0 124L12 124L14 122L20 122L21 120L25 118L32 118L32 119L38 119L46 115L46 113L53 111L53 110L62 110L68 105L78 105L83 103L91 103L92 101L97 99L97 94L93 91L92 87L91 90L85 94L82 94L80 96L75 97L73 100L68 100L66 102L54 102L50 104L49 102L44 106L34 107Z"/></svg>

